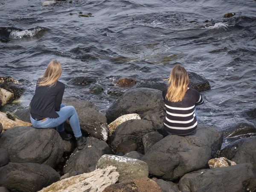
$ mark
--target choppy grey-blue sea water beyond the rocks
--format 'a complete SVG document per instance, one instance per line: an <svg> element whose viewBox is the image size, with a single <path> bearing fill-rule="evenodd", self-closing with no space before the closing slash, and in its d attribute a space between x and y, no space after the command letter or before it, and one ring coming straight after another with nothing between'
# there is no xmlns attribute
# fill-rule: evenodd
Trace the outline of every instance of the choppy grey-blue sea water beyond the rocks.
<svg viewBox="0 0 256 192"><path fill-rule="evenodd" d="M166 78L179 62L211 84L203 93L207 102L197 109L201 123L256 124L246 114L256 108L255 0L43 2L0 2L0 76L25 79L26 87L20 106L7 108L29 104L36 79L52 59L63 65L64 83L97 78L104 93L93 95L93 84L67 85L64 97L92 101L102 112L115 99L107 91L119 89L115 79ZM229 12L236 15L224 18Z"/></svg>

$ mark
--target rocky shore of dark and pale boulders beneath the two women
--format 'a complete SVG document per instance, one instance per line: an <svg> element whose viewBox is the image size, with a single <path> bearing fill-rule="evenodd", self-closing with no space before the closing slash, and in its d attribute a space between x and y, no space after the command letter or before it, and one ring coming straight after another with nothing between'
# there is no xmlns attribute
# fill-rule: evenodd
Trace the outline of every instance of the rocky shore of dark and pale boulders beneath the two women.
<svg viewBox="0 0 256 192"><path fill-rule="evenodd" d="M199 91L210 88L197 74L190 73L190 79ZM3 83L1 105L15 99L3 96L12 93L6 84L18 82ZM0 112L0 192L255 192L255 128L223 131L201 124L186 137L167 135L158 88L129 89L106 115L91 102L63 99L76 108L88 137L82 150L74 138L64 141L55 129L33 128L29 109L14 116ZM73 134L68 122L65 130ZM250 137L221 147L224 137L241 133Z"/></svg>

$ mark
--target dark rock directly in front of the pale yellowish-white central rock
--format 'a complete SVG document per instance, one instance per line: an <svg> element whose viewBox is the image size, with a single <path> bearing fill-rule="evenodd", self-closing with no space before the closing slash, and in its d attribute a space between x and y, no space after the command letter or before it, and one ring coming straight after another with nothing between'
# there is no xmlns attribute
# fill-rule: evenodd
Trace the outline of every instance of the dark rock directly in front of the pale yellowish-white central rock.
<svg viewBox="0 0 256 192"><path fill-rule="evenodd" d="M143 135L155 131L152 122L144 119L131 119L117 126L112 133L109 144L113 151L117 146L125 141L133 140L137 144L138 151L143 153L142 137Z"/></svg>

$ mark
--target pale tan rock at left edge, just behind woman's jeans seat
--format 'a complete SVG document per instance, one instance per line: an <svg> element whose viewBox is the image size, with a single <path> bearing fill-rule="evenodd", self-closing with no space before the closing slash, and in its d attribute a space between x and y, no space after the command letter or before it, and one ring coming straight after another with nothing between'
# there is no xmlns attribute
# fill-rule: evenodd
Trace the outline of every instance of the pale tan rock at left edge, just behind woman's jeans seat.
<svg viewBox="0 0 256 192"><path fill-rule="evenodd" d="M8 118L6 113L2 113L2 112L0 112L0 122L3 126L3 131L6 131L10 128L17 127L17 126L29 126L29 125L31 125L31 123L21 121L20 119L12 120L12 118L11 119Z"/></svg>

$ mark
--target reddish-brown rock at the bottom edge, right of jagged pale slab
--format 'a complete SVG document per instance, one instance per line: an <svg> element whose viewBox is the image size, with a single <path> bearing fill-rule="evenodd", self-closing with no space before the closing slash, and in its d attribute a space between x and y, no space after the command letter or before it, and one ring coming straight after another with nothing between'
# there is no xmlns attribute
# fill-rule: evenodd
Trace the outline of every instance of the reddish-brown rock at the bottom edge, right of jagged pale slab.
<svg viewBox="0 0 256 192"><path fill-rule="evenodd" d="M143 177L129 183L113 184L106 187L103 192L162 192L162 190L154 180Z"/></svg>

